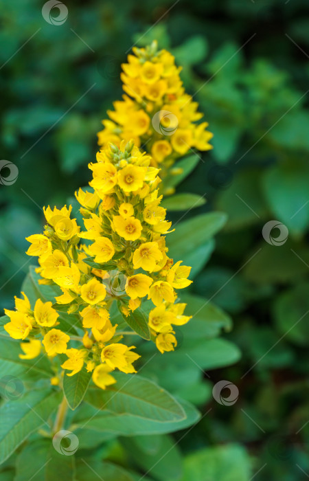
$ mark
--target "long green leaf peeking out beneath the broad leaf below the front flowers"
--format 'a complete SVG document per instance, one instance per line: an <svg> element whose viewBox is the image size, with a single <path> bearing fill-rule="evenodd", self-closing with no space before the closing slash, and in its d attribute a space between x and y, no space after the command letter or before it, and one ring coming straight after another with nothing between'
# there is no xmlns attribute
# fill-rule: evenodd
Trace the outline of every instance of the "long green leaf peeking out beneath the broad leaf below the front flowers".
<svg viewBox="0 0 309 481"><path fill-rule="evenodd" d="M76 412L73 418L72 429L80 427L84 429L93 429L98 432L114 433L118 436L140 436L153 434L167 434L171 432L185 429L198 422L201 417L196 408L183 401L178 400L181 409L185 413L183 421L165 421L159 422L155 419L147 419L133 414L115 414L103 410L98 411L98 407L87 406L82 404L80 410Z"/></svg>

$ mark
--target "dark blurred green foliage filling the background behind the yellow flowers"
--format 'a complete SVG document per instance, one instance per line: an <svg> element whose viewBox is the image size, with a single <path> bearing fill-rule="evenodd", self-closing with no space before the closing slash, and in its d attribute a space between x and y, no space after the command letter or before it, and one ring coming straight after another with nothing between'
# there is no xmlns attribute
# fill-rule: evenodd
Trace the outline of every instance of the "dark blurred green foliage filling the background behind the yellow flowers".
<svg viewBox="0 0 309 481"><path fill-rule="evenodd" d="M1 158L19 168L14 185L0 186L1 307L11 307L19 293L30 262L24 238L41 232L41 206L65 203L89 181L100 119L122 95L119 65L126 52L157 38L183 65L185 87L214 132L214 150L177 188L206 194L207 203L185 219L214 209L229 218L191 295L231 314L234 328L226 337L242 351L232 367L211 371L203 392L198 381L196 390L188 383L187 393L179 392L204 414L211 407L190 434L176 434L185 453L182 479L249 481L244 448L255 480L305 479L308 8L301 0L65 3L69 16L58 26L43 20L43 2L36 0L11 0L0 10ZM263 225L273 219L288 227L284 245L262 237ZM191 379L190 367L181 375ZM221 379L240 390L232 406L211 400L212 383ZM165 387L164 369L160 382ZM150 458L160 452L158 446L140 448ZM119 443L108 449L109 459L124 458ZM177 464L174 451L170 465ZM165 479L166 469L159 464L152 476Z"/></svg>

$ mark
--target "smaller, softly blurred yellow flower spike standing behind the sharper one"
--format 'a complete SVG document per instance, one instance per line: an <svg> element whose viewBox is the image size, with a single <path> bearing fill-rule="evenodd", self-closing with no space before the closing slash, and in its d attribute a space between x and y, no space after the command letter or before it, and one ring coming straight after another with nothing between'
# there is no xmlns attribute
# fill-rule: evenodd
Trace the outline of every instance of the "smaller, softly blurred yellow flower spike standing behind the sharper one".
<svg viewBox="0 0 309 481"><path fill-rule="evenodd" d="M127 95L108 111L111 120L103 120L98 143L119 146L122 139L134 139L152 156L152 165L160 164L163 179L174 161L192 148L209 150L212 133L207 122L196 124L203 117L198 103L185 93L174 56L157 50L157 43L139 49L122 65L123 89Z"/></svg>

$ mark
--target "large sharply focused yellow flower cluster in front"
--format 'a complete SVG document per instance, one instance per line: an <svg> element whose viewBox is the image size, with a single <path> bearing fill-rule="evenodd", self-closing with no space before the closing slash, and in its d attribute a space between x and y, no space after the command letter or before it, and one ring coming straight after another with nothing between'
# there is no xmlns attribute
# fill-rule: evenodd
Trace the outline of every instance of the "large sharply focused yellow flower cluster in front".
<svg viewBox="0 0 309 481"><path fill-rule="evenodd" d="M160 206L159 169L151 166L151 157L133 141L122 141L119 147L110 144L101 150L89 168L93 192L76 192L85 230L71 219L71 206L48 207L44 233L27 237L27 254L38 256L39 282L56 284L62 294L56 295L55 304L36 300L32 311L22 293L23 299L15 298L16 310L5 310L10 322L4 328L14 339L29 339L21 343L21 358L32 359L42 349L49 357L65 353L61 368L71 371L67 375L86 368L104 389L115 382L111 372L116 368L136 372L133 362L139 358L135 346L119 342L128 332L117 331L113 302L129 320L144 313L141 301L146 296L152 301L146 320L152 341L163 353L176 346L172 326L190 320L183 315L185 304L176 302L175 289L192 281L187 279L190 267L168 258L165 234L171 223ZM62 330L64 309L75 323L78 315L79 336Z"/></svg>

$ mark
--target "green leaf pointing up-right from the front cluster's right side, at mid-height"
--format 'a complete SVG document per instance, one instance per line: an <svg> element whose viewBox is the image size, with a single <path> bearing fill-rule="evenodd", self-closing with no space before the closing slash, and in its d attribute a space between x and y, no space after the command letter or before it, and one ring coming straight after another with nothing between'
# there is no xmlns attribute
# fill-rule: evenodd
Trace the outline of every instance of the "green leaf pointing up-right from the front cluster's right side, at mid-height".
<svg viewBox="0 0 309 481"><path fill-rule="evenodd" d="M201 259L204 251L208 255L209 249L213 248L209 239L225 225L226 220L227 216L222 212L210 212L177 224L176 230L166 238L169 257L192 266L194 276L203 267L201 260L197 263L196 260Z"/></svg>

